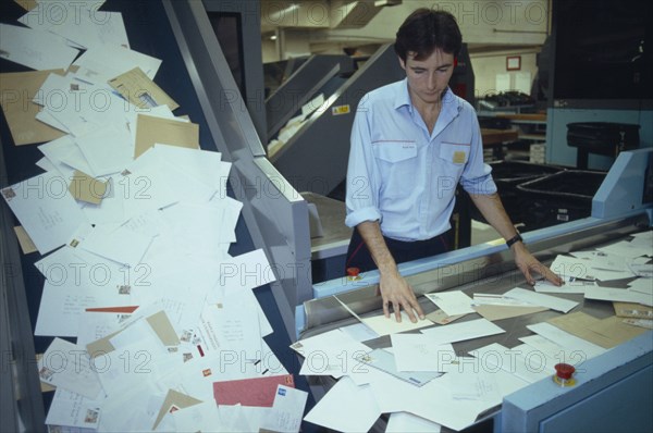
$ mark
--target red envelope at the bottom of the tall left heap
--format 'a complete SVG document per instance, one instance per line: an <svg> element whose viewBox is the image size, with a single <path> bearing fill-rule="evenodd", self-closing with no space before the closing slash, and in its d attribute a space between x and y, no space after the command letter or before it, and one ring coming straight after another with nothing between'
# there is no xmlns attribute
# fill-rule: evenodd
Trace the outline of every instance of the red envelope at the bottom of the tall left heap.
<svg viewBox="0 0 653 433"><path fill-rule="evenodd" d="M295 387L292 374L213 382L213 398L218 405L272 407L276 386Z"/></svg>

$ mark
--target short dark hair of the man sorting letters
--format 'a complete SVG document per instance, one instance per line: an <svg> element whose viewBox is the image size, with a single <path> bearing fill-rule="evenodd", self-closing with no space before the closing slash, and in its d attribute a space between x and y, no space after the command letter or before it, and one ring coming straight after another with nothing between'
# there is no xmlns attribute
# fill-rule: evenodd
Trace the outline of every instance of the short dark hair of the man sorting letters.
<svg viewBox="0 0 653 433"><path fill-rule="evenodd" d="M420 8L404 21L395 40L395 52L403 61L409 52L423 60L435 49L457 57L463 45L460 28L454 15L445 11Z"/></svg>

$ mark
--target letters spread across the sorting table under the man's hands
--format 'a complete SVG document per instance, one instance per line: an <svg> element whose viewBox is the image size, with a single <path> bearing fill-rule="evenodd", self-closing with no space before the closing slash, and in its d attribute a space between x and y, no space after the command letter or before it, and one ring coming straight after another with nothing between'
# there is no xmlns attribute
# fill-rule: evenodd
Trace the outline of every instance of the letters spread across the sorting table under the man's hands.
<svg viewBox="0 0 653 433"><path fill-rule="evenodd" d="M649 332L652 235L642 232L630 240L558 256L551 268L565 279L560 287L540 281L504 294L427 294L438 309L417 323L404 312L401 323L383 314L358 316L344 296L336 296L359 323L291 346L304 358L300 374L337 379L305 420L340 431L368 431L382 413L390 413L386 432L440 431L442 425L461 430L501 405L504 396L551 380L556 363L578 366ZM572 311L583 297L615 301L615 316L599 319ZM506 331L493 321L545 310L559 314L528 325L530 335L520 337L516 347L492 343L461 354L452 345L501 336ZM467 314L480 318L458 320ZM365 344L383 335L390 335L390 347Z"/></svg>

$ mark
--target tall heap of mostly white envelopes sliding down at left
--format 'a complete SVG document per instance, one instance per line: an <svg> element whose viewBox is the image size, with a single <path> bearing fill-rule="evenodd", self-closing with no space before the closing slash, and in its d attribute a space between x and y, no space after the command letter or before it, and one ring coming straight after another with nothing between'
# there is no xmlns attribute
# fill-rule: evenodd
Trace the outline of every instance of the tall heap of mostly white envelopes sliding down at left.
<svg viewBox="0 0 653 433"><path fill-rule="evenodd" d="M161 61L131 50L102 3L38 2L24 26L0 24L2 57L36 70L2 74L1 104L15 145L44 143L44 172L1 194L24 251L42 256L46 423L298 431L307 394L266 344L252 292L274 272L261 249L229 253L231 163L200 150L198 124L153 82ZM75 22L39 20L66 5Z"/></svg>

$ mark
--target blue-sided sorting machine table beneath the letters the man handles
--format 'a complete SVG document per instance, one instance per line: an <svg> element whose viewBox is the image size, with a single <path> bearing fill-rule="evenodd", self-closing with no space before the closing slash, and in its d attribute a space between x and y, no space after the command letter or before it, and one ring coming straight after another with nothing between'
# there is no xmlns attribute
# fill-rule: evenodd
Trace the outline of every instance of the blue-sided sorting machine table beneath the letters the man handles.
<svg viewBox="0 0 653 433"><path fill-rule="evenodd" d="M525 203L528 206L528 203ZM619 154L592 200L589 218L523 234L529 249L550 264L560 253L592 249L623 239L637 232L650 231L653 221L653 149L638 149ZM399 265L402 274L418 295L461 289L473 293L503 294L525 287L526 281L515 268L503 239L475 245L432 258ZM377 295L378 271L359 280L343 276L313 285L312 299L296 311L299 339L357 322L333 295L358 316L382 313ZM621 282L620 284L624 284ZM574 311L596 318L614 314L612 302L583 299L582 295L555 295L579 301ZM426 313L435 310L424 296L418 297ZM560 313L553 310L504 319L496 323L506 333L454 344L457 354L500 343L515 347L519 337L531 334L527 325L540 323ZM460 321L478 318L468 314ZM366 342L372 348L390 346L387 336ZM579 369L580 370L580 369ZM495 432L553 431L650 431L653 391L653 332L648 331L582 364L576 375L578 384L560 388L551 379L535 382L503 399L477 420L470 429ZM312 380L313 395L320 398L332 380ZM374 424L382 431L385 419ZM443 429L445 431L446 429ZM478 430L472 430L478 431Z"/></svg>

